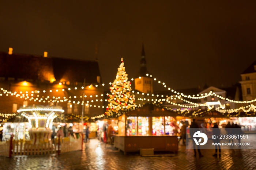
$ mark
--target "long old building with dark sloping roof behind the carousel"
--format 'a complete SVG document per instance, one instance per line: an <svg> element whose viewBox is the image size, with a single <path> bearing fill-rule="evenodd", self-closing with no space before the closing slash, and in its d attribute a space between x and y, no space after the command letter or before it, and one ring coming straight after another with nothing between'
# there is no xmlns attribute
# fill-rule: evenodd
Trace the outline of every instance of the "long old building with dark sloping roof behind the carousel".
<svg viewBox="0 0 256 170"><path fill-rule="evenodd" d="M103 86L97 61L17 54L9 50L0 52L0 63L3 115L16 113L28 105L60 105L64 114L77 120L82 108L84 118L103 113Z"/></svg>

